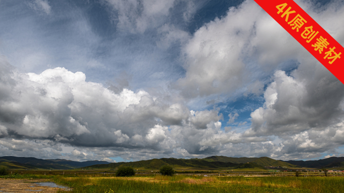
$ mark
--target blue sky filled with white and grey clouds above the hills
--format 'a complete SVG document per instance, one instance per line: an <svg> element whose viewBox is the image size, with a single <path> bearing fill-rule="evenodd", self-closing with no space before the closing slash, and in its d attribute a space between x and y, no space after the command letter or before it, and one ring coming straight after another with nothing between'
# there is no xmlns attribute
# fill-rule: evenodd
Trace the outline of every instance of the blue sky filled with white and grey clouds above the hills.
<svg viewBox="0 0 344 193"><path fill-rule="evenodd" d="M295 0L344 45L344 1ZM344 156L344 85L253 0L0 0L0 156Z"/></svg>

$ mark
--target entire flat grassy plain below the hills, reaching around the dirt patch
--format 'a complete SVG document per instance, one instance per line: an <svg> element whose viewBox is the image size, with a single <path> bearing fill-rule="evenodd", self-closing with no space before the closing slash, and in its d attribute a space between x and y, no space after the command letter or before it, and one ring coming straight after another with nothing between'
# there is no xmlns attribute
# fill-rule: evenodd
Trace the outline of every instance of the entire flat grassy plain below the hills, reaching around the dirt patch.
<svg viewBox="0 0 344 193"><path fill-rule="evenodd" d="M218 173L217 173L218 174ZM232 174L232 175L231 175ZM236 174L236 175L235 175ZM270 173L180 173L173 176L162 176L158 173L136 174L131 177L116 177L111 172L77 172L77 171L22 171L16 174L1 176L2 192L7 183L33 183L35 181L51 181L70 187L46 188L37 192L343 192L344 177L301 173L295 175L280 175ZM231 176L227 176L231 175ZM12 189L11 192L25 191L25 187ZM38 187L36 188L38 189Z"/></svg>

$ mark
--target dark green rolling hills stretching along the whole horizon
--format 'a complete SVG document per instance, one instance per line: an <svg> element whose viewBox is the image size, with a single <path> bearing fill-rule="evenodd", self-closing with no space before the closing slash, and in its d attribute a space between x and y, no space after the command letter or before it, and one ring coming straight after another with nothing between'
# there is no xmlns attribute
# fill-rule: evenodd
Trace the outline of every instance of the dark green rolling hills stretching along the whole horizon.
<svg viewBox="0 0 344 193"><path fill-rule="evenodd" d="M131 166L140 169L159 169L163 165L171 165L174 168L193 169L229 169L229 168L257 168L269 167L283 168L344 168L344 157L329 157L319 160L275 160L269 157L226 157L210 156L206 158L177 159L160 158L132 162L109 163L107 161L71 161L66 159L38 159L34 157L0 157L0 167L7 169L115 169L119 166Z"/></svg>

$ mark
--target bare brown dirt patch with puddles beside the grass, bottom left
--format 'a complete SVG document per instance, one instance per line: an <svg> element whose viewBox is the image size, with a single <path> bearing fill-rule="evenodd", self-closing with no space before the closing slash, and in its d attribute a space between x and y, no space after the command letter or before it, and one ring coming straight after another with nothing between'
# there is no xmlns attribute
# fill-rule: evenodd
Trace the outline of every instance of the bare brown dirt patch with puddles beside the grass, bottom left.
<svg viewBox="0 0 344 193"><path fill-rule="evenodd" d="M33 182L43 182L42 179L0 179L0 192L57 192L57 187L39 186Z"/></svg>

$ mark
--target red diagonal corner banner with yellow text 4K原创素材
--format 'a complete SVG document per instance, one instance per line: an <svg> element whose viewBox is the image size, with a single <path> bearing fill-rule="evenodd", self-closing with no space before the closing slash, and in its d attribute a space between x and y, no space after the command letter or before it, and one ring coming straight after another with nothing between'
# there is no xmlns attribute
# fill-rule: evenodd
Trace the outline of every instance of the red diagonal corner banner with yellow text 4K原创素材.
<svg viewBox="0 0 344 193"><path fill-rule="evenodd" d="M292 0L254 0L344 84L344 49Z"/></svg>

